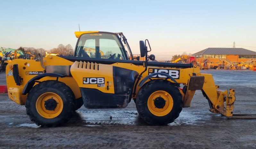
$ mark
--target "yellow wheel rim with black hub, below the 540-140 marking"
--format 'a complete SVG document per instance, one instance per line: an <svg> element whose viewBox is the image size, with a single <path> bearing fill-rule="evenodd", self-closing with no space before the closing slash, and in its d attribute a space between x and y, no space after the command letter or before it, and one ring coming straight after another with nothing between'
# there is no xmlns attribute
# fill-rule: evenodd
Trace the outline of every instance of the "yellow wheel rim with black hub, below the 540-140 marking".
<svg viewBox="0 0 256 149"><path fill-rule="evenodd" d="M54 104L52 105L52 103ZM49 104L50 107L48 106ZM36 109L38 114L44 118L55 118L62 112L63 101L61 97L56 93L46 92L38 97L36 102Z"/></svg>

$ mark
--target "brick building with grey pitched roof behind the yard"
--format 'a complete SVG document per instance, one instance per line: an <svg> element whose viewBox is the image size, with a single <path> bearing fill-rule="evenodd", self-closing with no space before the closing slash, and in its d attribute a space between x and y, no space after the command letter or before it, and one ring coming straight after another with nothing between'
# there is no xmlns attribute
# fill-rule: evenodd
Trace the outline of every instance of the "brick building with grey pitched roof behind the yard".
<svg viewBox="0 0 256 149"><path fill-rule="evenodd" d="M211 66L219 64L255 64L256 52L243 48L207 48L192 54L199 63L210 63Z"/></svg>

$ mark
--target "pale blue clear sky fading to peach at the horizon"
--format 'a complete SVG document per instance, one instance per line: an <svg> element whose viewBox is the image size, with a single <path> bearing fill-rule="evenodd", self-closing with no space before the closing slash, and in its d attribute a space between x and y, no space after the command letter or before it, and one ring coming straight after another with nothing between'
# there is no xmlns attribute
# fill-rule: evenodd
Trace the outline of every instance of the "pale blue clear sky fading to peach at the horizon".
<svg viewBox="0 0 256 149"><path fill-rule="evenodd" d="M123 32L134 54L149 39L157 59L208 47L256 51L256 1L0 1L0 46L75 47L82 31ZM251 46L251 47L245 47Z"/></svg>

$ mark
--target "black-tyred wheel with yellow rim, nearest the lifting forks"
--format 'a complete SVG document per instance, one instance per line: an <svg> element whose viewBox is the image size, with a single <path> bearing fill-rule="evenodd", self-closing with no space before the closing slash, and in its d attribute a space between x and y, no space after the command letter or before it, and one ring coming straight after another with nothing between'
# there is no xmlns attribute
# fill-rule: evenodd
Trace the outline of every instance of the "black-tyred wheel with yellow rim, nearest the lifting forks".
<svg viewBox="0 0 256 149"><path fill-rule="evenodd" d="M182 105L178 87L163 79L155 79L143 85L136 99L138 113L149 124L174 122L179 117Z"/></svg>

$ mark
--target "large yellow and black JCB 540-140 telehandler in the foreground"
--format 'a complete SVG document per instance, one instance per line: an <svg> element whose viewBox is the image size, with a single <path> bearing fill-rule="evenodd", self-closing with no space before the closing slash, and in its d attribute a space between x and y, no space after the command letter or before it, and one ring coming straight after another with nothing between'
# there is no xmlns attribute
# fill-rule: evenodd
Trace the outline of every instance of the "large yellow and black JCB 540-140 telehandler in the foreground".
<svg viewBox="0 0 256 149"><path fill-rule="evenodd" d="M123 33L75 35L74 56L14 59L6 67L9 98L25 105L37 125L62 125L82 105L125 108L132 99L145 122L167 124L190 106L196 90L202 91L211 112L233 116L234 89L219 90L212 75L200 73L196 65L149 61L155 56L148 56L148 40L140 41L141 57L146 60L136 61Z"/></svg>

